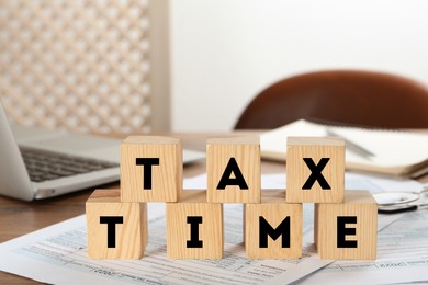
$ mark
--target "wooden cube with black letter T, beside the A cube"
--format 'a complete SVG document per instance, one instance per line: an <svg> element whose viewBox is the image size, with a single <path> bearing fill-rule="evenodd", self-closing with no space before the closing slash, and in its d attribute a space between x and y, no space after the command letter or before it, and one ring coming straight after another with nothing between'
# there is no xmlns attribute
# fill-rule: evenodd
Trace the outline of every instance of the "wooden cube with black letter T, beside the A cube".
<svg viewBox="0 0 428 285"><path fill-rule="evenodd" d="M131 136L121 144L123 202L176 202L182 190L181 140Z"/></svg>

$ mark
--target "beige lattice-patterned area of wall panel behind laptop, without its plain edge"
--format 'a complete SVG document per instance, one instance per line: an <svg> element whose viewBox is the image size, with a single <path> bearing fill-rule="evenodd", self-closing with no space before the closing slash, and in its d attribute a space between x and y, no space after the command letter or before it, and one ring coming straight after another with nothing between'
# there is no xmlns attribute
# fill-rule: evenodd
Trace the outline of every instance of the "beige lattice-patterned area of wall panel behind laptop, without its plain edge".
<svg viewBox="0 0 428 285"><path fill-rule="evenodd" d="M0 1L0 95L10 119L149 132L148 2Z"/></svg>

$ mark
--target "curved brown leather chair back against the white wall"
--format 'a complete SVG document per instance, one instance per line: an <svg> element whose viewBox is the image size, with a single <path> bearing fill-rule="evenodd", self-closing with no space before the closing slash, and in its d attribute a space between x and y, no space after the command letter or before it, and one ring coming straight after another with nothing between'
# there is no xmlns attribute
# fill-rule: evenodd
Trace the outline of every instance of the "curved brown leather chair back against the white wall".
<svg viewBox="0 0 428 285"><path fill-rule="evenodd" d="M428 128L428 88L381 72L304 73L263 90L246 107L235 129L270 129L300 118L365 127Z"/></svg>

